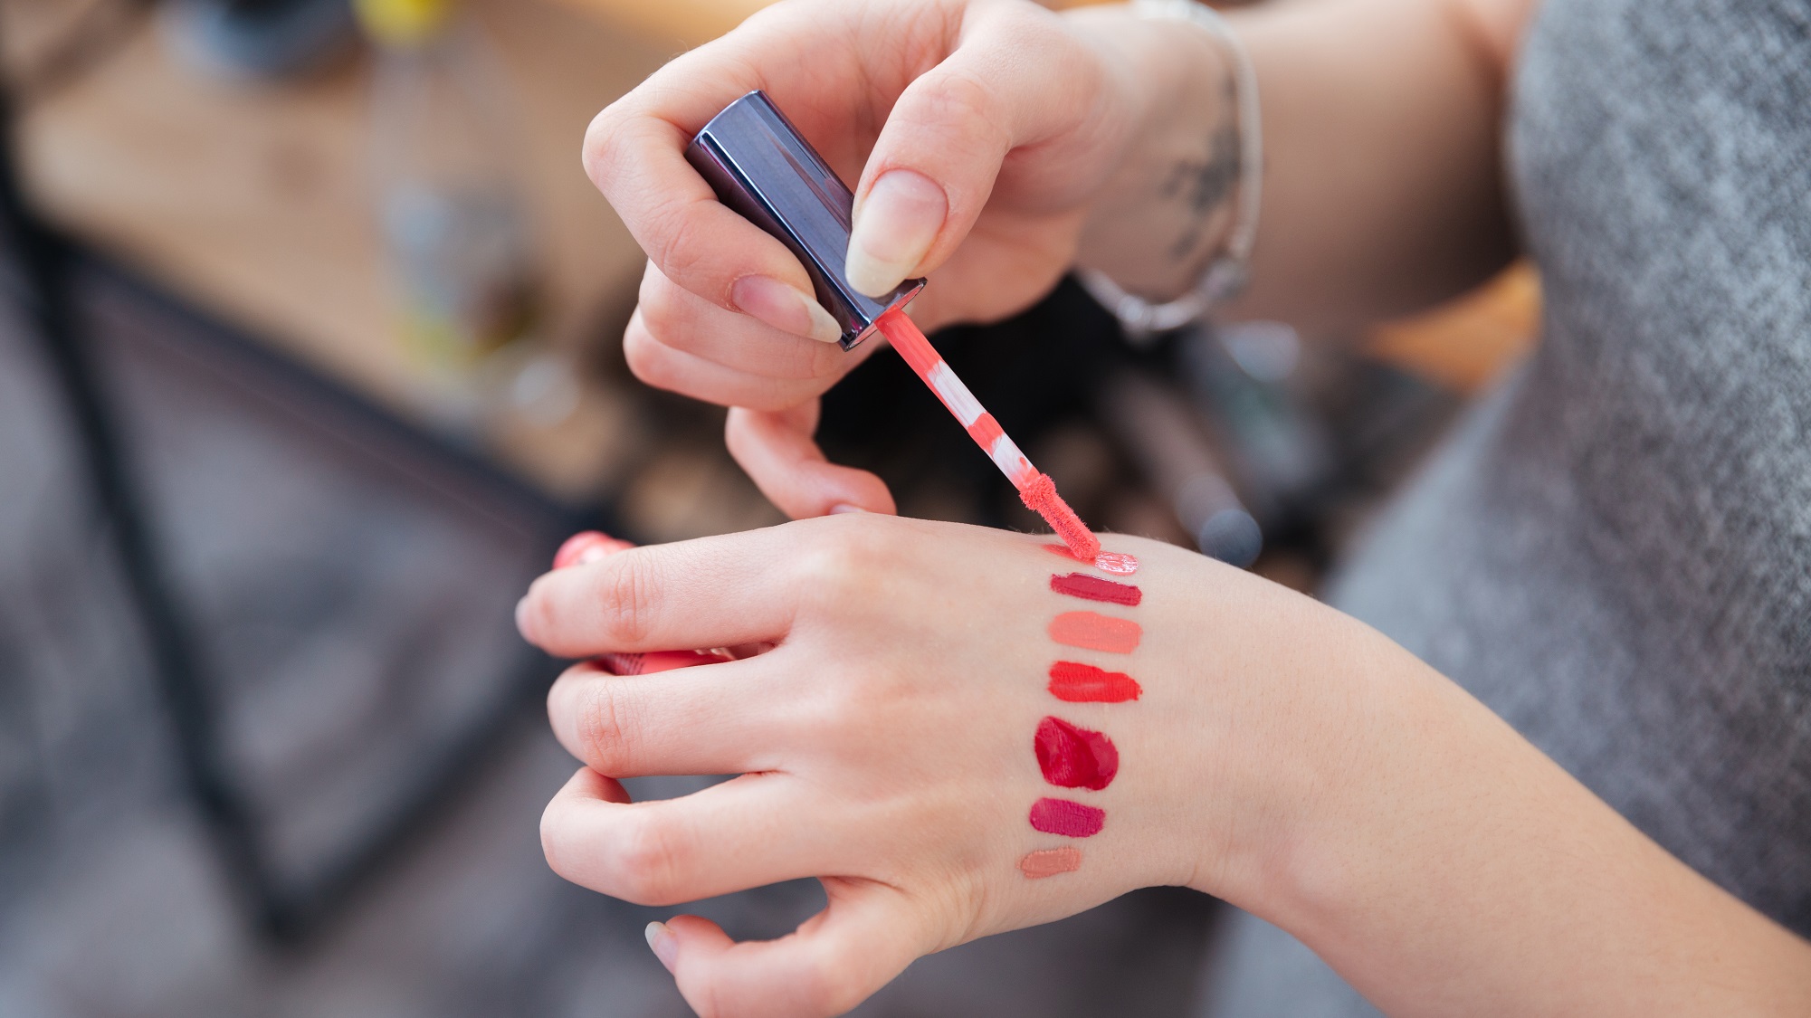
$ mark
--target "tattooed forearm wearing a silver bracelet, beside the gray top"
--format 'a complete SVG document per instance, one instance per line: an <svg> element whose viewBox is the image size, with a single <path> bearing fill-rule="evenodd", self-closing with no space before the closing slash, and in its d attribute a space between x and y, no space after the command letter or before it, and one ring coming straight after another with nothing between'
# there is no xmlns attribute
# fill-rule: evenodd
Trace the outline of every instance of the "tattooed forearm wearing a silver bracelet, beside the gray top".
<svg viewBox="0 0 1811 1018"><path fill-rule="evenodd" d="M1318 0L1231 16L1257 67L1264 205L1241 315L1308 331L1425 306L1512 252L1500 121L1525 0ZM1090 31L1139 67L1139 143L1079 261L1154 297L1224 239L1235 196L1226 54L1190 25ZM1119 14L1128 18L1128 14Z"/></svg>

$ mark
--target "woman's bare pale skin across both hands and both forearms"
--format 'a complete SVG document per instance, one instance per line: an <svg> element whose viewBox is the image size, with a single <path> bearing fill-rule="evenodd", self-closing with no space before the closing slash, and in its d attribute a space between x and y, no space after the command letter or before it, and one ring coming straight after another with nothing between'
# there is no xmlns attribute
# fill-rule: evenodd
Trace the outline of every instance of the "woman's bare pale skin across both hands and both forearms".
<svg viewBox="0 0 1811 1018"><path fill-rule="evenodd" d="M1268 136L1241 312L1362 324L1509 257L1498 121L1530 13L1302 0L1235 20ZM1161 297L1224 230L1221 60L1206 33L1117 9L797 0L599 114L587 170L652 259L630 366L739 408L730 449L799 520L534 583L518 619L558 656L773 645L563 676L549 714L585 768L547 810L549 862L659 906L822 879L829 908L782 940L732 944L695 917L654 929L710 1018L837 1014L916 956L1152 884L1282 926L1389 1014L1811 1011L1811 946L1458 685L1264 580L1107 536L1143 560L1145 641L1123 667L1145 697L1056 703L1043 627L1076 607L1047 583L1063 562L1047 538L895 518L878 478L824 462L817 397L878 344L820 342L802 268L679 156L766 89L860 181L851 281L929 274L927 328L1021 310L1076 263ZM844 507L867 513L826 516ZM1045 714L1108 732L1121 772L1090 799L1108 824L1076 842L1081 869L1027 880L1016 860L1061 842L1025 821L1049 792L1030 752ZM645 773L744 777L627 802L614 779Z"/></svg>

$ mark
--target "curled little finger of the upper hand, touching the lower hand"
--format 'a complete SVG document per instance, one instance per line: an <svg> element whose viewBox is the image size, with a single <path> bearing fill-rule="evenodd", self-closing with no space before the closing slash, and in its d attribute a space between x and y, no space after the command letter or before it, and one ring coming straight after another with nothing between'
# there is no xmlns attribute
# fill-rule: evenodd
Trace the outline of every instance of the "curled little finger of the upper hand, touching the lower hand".
<svg viewBox="0 0 1811 1018"><path fill-rule="evenodd" d="M755 487L793 520L860 509L895 514L893 493L877 475L824 458L811 435L819 400L784 411L732 408L724 444Z"/></svg>

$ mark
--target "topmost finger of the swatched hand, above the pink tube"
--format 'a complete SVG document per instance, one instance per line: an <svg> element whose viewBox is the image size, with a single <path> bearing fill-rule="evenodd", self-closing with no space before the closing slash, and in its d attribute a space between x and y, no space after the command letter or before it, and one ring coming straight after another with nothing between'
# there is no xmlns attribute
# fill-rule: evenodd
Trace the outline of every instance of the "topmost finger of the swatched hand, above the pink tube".
<svg viewBox="0 0 1811 1018"><path fill-rule="evenodd" d="M768 527L556 569L516 605L516 629L556 658L779 643L797 603L793 538Z"/></svg>

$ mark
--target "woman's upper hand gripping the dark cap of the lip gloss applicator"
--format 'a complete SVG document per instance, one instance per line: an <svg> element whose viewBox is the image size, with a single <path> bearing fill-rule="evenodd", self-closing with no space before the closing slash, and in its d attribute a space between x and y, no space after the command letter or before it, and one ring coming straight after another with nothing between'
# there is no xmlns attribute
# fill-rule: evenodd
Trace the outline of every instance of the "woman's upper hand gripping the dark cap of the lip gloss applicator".
<svg viewBox="0 0 1811 1018"><path fill-rule="evenodd" d="M817 397L875 342L833 342L799 261L717 203L685 147L735 98L766 91L858 179L849 281L884 293L931 275L911 310L920 326L992 321L1074 261L1152 107L1126 40L1154 31L1029 0L788 0L676 58L585 138L587 172L650 255L630 370L744 408L730 449L786 513L893 511L878 478L826 464L811 440Z"/></svg>

